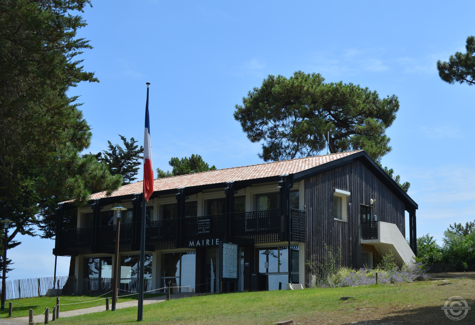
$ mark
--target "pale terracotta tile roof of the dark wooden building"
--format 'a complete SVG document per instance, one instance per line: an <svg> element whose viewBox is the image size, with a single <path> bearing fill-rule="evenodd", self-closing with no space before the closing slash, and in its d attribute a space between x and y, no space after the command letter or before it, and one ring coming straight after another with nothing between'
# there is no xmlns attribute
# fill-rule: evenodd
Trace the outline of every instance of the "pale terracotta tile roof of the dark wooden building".
<svg viewBox="0 0 475 325"><path fill-rule="evenodd" d="M208 172L197 172L193 174L158 178L154 180L153 189L155 191L164 191L178 189L180 187L200 186L232 181L244 181L270 176L279 176L283 174L293 174L296 172L302 172L306 169L310 169L318 165L322 165L325 162L331 162L333 160L346 157L348 155L360 151L361 150L350 151L345 153L331 153L321 156L281 160L278 162L266 162L257 165L223 168ZM110 197L141 193L142 188L142 181L123 185L117 191L114 191L112 195L110 195ZM92 194L90 200L105 197L105 191L103 191Z"/></svg>

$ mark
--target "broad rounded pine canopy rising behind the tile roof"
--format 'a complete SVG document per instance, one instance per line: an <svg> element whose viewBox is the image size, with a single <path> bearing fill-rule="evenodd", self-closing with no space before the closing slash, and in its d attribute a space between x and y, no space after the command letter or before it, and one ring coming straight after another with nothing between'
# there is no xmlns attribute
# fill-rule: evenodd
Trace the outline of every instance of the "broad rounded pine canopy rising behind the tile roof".
<svg viewBox="0 0 475 325"><path fill-rule="evenodd" d="M359 85L325 83L320 74L269 75L236 105L234 118L252 142L263 142L259 157L277 161L364 149L375 161L391 151L386 129L399 110L395 95L380 98Z"/></svg>

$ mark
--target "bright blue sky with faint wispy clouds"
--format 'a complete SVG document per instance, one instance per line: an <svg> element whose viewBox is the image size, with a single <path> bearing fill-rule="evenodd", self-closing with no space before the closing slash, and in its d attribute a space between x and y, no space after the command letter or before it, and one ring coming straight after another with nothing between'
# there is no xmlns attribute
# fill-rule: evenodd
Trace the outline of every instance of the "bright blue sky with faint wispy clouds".
<svg viewBox="0 0 475 325"><path fill-rule="evenodd" d="M473 1L93 1L79 32L94 47L81 58L100 83L70 90L92 126L88 151L117 134L143 141L150 82L154 167L201 154L217 168L262 162L233 119L234 105L269 74L321 73L395 94L400 110L387 130L383 165L409 181L419 204L418 235L441 243L448 224L475 219L471 149L475 88L449 85L437 59L465 52L474 35ZM142 174L140 174L141 176ZM19 237L9 251L11 279L52 276L52 240ZM33 264L34 263L34 264ZM32 270L31 265L36 265ZM69 258L58 258L66 275Z"/></svg>

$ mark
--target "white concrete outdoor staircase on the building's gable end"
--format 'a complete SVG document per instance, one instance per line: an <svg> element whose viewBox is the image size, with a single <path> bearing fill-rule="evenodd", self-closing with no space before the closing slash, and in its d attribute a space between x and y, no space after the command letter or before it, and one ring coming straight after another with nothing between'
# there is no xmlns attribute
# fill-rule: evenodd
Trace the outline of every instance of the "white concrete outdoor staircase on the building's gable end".
<svg viewBox="0 0 475 325"><path fill-rule="evenodd" d="M414 261L414 252L394 223L378 221L378 239L361 239L361 244L373 245L383 255L391 251L399 268Z"/></svg>

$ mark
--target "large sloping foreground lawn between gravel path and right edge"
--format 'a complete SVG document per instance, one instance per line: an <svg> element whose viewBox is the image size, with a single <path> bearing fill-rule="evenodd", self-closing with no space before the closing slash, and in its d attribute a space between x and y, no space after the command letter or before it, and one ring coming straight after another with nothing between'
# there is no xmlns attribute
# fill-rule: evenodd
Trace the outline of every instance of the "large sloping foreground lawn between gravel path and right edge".
<svg viewBox="0 0 475 325"><path fill-rule="evenodd" d="M452 282L454 284L442 285ZM354 296L342 301L341 296ZM473 310L456 324L475 324L475 277L450 281L195 296L144 306L142 324L454 324L440 309L462 296ZM60 318L56 324L129 324L137 309ZM370 322L368 322L370 321Z"/></svg>

